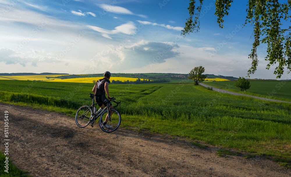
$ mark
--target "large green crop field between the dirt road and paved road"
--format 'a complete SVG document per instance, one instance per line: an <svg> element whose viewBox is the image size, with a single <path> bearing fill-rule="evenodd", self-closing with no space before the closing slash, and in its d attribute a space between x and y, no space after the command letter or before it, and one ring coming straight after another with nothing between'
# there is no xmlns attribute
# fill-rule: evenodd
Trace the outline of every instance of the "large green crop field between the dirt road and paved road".
<svg viewBox="0 0 291 177"><path fill-rule="evenodd" d="M0 102L74 116L81 105L91 104L88 93L93 86L0 80ZM286 167L291 164L290 103L222 94L187 83L109 84L109 93L121 101L117 108L123 117L121 127L281 158L287 161Z"/></svg>

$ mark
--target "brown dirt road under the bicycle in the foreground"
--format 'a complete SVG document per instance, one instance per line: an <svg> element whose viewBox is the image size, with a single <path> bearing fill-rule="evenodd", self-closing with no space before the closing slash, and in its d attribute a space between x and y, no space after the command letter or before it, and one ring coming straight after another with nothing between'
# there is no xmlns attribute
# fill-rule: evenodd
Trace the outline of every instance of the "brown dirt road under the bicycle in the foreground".
<svg viewBox="0 0 291 177"><path fill-rule="evenodd" d="M0 103L4 111L9 157L33 176L291 176L271 160L220 157L219 147L200 149L182 138L123 128L108 134L97 125L79 128L65 114Z"/></svg>

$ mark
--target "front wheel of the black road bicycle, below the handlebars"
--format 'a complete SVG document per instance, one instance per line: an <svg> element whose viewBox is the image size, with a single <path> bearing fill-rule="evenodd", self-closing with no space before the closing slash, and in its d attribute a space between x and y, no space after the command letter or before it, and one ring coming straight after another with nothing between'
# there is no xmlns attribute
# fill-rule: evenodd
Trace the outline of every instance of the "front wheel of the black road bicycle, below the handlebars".
<svg viewBox="0 0 291 177"><path fill-rule="evenodd" d="M106 126L103 126L103 121L107 121ZM120 123L121 115L116 109L110 109L109 116L108 111L103 112L99 118L100 128L107 133L115 131L119 127Z"/></svg>

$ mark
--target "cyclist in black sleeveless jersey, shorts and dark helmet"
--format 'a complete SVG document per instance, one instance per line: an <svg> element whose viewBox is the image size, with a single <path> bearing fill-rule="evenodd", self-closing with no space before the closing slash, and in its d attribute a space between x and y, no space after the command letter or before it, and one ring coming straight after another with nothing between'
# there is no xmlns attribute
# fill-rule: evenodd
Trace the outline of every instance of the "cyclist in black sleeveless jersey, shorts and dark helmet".
<svg viewBox="0 0 291 177"><path fill-rule="evenodd" d="M106 103L109 100L105 96L105 93L106 93L108 98L111 98L109 96L109 90L108 90L108 85L110 83L110 81L109 81L110 76L111 76L111 73L109 71L104 72L104 78L99 79L96 82L95 86L93 87L92 92L94 92L94 99L95 99L96 103L98 103L98 106L100 107L97 114L99 114L103 110L104 106L105 107L110 106L111 108L113 108L113 106L111 105L110 102ZM112 126L107 125L107 122L108 122L108 114L107 114L106 119L105 119L102 126L106 127L106 128L111 128Z"/></svg>

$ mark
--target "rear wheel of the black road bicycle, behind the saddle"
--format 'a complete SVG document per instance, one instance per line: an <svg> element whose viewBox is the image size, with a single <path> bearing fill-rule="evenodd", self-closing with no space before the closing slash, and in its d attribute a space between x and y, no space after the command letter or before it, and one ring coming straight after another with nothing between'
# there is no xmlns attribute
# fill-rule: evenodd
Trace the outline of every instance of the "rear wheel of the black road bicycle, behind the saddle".
<svg viewBox="0 0 291 177"><path fill-rule="evenodd" d="M90 123L90 117L92 115L92 110L89 106L81 106L75 116L76 124L79 127L86 127Z"/></svg>

